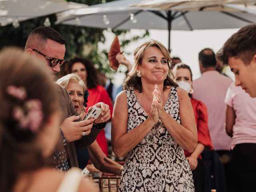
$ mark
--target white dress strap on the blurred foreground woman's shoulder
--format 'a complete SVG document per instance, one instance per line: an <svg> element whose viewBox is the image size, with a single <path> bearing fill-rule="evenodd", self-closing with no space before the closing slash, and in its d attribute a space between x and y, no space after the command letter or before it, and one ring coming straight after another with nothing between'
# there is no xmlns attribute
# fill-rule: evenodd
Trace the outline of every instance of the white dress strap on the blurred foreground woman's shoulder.
<svg viewBox="0 0 256 192"><path fill-rule="evenodd" d="M78 192L82 180L81 170L71 168L64 176L56 192Z"/></svg>

